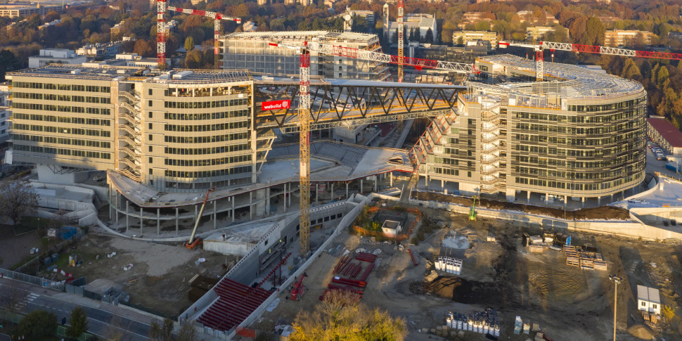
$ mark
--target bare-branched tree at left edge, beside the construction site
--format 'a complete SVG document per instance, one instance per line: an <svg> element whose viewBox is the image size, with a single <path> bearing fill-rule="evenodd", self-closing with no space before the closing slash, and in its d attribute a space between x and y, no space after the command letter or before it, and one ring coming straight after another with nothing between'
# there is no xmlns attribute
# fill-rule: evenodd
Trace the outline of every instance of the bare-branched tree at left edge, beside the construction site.
<svg viewBox="0 0 682 341"><path fill-rule="evenodd" d="M28 181L0 181L0 214L19 224L21 217L36 212L38 193Z"/></svg>

